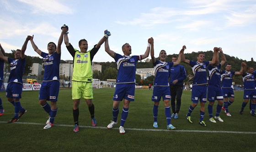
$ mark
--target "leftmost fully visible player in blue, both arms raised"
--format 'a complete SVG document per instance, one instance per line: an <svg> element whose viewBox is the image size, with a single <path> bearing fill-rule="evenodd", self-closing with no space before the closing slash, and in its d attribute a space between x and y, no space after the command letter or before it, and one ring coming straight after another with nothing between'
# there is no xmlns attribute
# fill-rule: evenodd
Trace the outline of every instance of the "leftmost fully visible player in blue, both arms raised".
<svg viewBox="0 0 256 152"><path fill-rule="evenodd" d="M6 87L6 97L9 102L14 104L14 117L8 123L17 122L26 112L26 109L21 106L20 99L23 87L22 76L26 66L25 51L27 49L27 42L30 39L31 36L27 36L21 50L17 49L15 51L14 59L4 56L2 51L0 51L0 59L10 64L10 76Z"/></svg>

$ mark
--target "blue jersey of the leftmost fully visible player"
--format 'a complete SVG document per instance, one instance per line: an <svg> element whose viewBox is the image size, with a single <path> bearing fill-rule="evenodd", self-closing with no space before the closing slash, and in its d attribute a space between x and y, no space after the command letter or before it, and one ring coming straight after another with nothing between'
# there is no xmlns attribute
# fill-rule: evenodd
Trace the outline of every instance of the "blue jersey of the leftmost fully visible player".
<svg viewBox="0 0 256 152"><path fill-rule="evenodd" d="M23 84L22 76L26 66L25 57L23 59L19 58L17 60L8 58L8 62L10 63L10 76L8 83L17 82Z"/></svg>

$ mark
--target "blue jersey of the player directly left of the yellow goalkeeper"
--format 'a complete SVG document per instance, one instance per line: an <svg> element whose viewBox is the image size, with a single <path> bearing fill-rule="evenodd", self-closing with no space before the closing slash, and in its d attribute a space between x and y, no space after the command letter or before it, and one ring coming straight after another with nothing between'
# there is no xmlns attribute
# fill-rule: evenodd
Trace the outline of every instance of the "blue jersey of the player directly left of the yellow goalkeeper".
<svg viewBox="0 0 256 152"><path fill-rule="evenodd" d="M49 56L48 53L42 52L41 56L44 66L43 81L59 80L60 53L54 52Z"/></svg>

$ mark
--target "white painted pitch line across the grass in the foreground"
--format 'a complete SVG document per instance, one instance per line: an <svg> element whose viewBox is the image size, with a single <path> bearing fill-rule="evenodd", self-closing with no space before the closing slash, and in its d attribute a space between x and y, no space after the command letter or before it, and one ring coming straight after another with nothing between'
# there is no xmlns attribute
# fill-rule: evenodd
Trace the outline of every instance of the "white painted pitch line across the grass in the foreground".
<svg viewBox="0 0 256 152"><path fill-rule="evenodd" d="M1 122L0 123L7 123ZM35 123L35 122L15 122L17 124L27 124L27 125L40 125L44 126L44 123ZM60 127L74 127L74 125L64 125L64 124L54 124L54 126ZM91 127L91 126L80 126L81 128L99 128L107 129L107 127ZM112 129L118 129L114 127ZM256 134L256 132L234 132L234 131L206 131L206 130L167 130L167 129L139 129L139 128L125 128L125 130L135 130L135 131L151 131L151 132L206 132L206 133L234 133L234 134Z"/></svg>

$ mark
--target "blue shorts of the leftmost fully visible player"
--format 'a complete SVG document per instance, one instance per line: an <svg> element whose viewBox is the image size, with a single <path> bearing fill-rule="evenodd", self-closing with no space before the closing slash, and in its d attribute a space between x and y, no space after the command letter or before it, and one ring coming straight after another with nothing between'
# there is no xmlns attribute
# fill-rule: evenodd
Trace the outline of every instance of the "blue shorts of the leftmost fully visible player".
<svg viewBox="0 0 256 152"><path fill-rule="evenodd" d="M11 82L6 87L6 97L21 99L23 85L21 83Z"/></svg>

